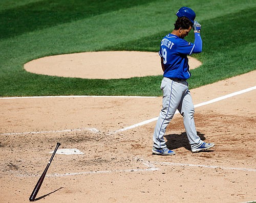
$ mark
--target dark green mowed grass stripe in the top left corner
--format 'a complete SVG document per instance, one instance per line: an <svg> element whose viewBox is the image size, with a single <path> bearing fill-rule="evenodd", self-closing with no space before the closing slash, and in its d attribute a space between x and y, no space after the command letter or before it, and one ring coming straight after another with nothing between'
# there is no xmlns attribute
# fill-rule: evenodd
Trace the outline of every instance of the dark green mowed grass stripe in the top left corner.
<svg viewBox="0 0 256 203"><path fill-rule="evenodd" d="M152 0L153 1L153 0ZM0 12L0 37L8 38L115 10L147 4L151 0L48 0Z"/></svg>

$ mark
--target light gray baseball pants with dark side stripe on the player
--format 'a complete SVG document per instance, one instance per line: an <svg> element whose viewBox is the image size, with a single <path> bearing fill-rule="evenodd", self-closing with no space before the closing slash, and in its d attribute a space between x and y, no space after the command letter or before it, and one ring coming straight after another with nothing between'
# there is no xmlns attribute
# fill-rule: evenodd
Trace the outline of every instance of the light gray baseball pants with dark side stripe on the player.
<svg viewBox="0 0 256 203"><path fill-rule="evenodd" d="M156 148L166 147L163 136L167 125L178 109L183 116L183 123L191 149L199 147L203 141L197 135L194 121L195 108L188 90L188 83L163 78L161 89L163 91L163 108L156 123L153 146Z"/></svg>

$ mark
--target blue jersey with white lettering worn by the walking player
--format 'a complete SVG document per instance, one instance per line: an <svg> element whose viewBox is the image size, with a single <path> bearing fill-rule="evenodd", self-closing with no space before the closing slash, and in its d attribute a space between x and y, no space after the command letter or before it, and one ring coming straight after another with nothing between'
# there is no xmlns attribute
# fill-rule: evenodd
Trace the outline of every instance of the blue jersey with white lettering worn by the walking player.
<svg viewBox="0 0 256 203"><path fill-rule="evenodd" d="M163 58L164 74L166 78L188 79L191 74L187 55L200 53L202 51L202 40L200 34L195 33L195 43L187 42L176 35L168 34L162 41L159 50Z"/></svg>

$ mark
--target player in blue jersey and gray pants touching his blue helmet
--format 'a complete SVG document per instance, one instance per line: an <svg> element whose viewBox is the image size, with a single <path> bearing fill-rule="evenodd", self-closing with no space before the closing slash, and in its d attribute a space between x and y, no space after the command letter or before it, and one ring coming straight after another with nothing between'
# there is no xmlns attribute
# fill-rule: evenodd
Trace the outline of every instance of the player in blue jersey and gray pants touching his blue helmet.
<svg viewBox="0 0 256 203"><path fill-rule="evenodd" d="M207 150L214 146L214 143L203 142L197 135L194 121L195 109L186 81L191 76L187 55L202 52L201 25L194 21L196 14L188 7L180 8L176 15L178 19L174 24L175 28L172 33L162 39L159 50L164 72L161 83L163 108L156 123L152 148L153 154L158 155L175 155L175 151L167 148L163 136L166 126L172 120L177 109L183 116L191 151ZM192 28L195 34L194 43L184 40Z"/></svg>

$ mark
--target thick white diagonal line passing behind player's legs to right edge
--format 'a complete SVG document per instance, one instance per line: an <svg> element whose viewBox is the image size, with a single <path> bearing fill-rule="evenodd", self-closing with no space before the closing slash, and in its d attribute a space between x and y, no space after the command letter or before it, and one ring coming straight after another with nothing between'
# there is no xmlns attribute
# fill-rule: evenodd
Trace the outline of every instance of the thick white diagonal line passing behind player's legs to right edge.
<svg viewBox="0 0 256 203"><path fill-rule="evenodd" d="M220 96L220 97L218 97L218 98L211 99L211 100L209 100L208 102L203 102L203 103L200 103L200 104L198 104L198 105L195 105L195 108L196 108L196 107L201 107L201 106L204 106L204 105L208 105L208 104L212 104L212 103L215 103L215 102L219 102L220 100L223 100L223 99L226 99L226 98L229 98L229 97L232 97L232 96L236 96L236 95L239 95L239 94L243 94L243 93L246 93L246 92L255 90L255 89L256 89L256 86L250 87L250 88L247 88L247 89L238 91L238 92L233 92L233 93L231 93L231 94L227 94L227 95L224 95L224 96ZM178 110L176 110L175 114L177 114L177 113L179 113ZM145 121L136 123L136 124L134 124L134 125L127 126L127 127L125 127L125 128L116 130L116 131L114 131L113 133L118 133L118 132L130 130L130 129L136 128L136 127L138 127L138 126L141 126L141 125L144 125L144 124L147 124L147 123L156 121L157 119L158 119L158 117L152 118L152 119L149 119L149 120L145 120Z"/></svg>

